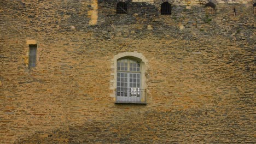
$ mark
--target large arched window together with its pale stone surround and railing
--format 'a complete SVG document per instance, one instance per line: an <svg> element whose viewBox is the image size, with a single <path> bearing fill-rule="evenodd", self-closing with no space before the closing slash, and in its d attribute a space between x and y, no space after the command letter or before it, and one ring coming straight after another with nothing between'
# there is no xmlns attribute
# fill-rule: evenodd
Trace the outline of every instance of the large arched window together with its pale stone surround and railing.
<svg viewBox="0 0 256 144"><path fill-rule="evenodd" d="M124 52L112 59L110 89L115 103L146 103L147 59L138 52Z"/></svg>

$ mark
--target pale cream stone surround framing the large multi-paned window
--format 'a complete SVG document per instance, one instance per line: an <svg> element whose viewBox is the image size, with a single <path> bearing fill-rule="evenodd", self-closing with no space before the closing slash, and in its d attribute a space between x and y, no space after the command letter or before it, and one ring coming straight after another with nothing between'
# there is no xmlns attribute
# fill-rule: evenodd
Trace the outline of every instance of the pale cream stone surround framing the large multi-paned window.
<svg viewBox="0 0 256 144"><path fill-rule="evenodd" d="M137 59L141 62L141 88L147 89L146 84L146 71L147 71L147 64L148 60L146 57L142 55L142 53L138 52L123 52L118 53L118 55L115 55L113 59L111 60L111 79L110 79L110 90L112 90L112 93L110 93L110 97L114 98L115 101L115 89L117 88L117 61L120 58L130 57L132 59Z"/></svg>

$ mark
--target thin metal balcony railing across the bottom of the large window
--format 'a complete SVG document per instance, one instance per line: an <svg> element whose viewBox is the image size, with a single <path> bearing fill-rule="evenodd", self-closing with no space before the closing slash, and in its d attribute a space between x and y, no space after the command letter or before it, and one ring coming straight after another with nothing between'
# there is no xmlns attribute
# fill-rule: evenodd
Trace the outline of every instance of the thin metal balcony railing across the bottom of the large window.
<svg viewBox="0 0 256 144"><path fill-rule="evenodd" d="M146 104L147 91L140 88L115 90L115 103Z"/></svg>

